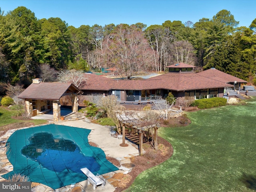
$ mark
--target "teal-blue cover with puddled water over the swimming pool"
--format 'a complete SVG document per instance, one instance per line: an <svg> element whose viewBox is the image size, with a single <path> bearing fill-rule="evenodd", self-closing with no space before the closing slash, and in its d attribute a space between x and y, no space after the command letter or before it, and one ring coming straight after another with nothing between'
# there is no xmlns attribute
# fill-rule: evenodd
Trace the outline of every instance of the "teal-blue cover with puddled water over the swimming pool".
<svg viewBox="0 0 256 192"><path fill-rule="evenodd" d="M89 145L90 131L56 124L17 130L6 143L13 171L2 177L20 173L31 182L57 189L86 180L80 168L95 175L118 170L102 149Z"/></svg>

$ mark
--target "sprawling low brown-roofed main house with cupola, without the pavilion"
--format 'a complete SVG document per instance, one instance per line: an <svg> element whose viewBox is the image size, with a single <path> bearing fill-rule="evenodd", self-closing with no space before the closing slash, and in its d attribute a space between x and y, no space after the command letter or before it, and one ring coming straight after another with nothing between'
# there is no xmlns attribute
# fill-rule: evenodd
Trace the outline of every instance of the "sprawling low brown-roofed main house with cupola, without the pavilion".
<svg viewBox="0 0 256 192"><path fill-rule="evenodd" d="M215 68L199 73L194 73L194 66L184 63L167 68L168 73L145 80L114 80L85 74L88 80L79 88L84 92L84 99L90 94L115 95L121 104L129 107L166 98L169 92L178 100L185 96L193 96L194 99L223 97L226 88L240 89L240 85L246 83Z"/></svg>

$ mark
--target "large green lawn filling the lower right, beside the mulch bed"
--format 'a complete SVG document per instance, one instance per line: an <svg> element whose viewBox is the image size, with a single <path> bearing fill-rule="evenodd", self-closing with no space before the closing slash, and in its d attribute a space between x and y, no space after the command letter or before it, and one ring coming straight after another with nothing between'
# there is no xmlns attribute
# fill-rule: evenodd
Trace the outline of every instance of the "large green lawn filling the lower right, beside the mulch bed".
<svg viewBox="0 0 256 192"><path fill-rule="evenodd" d="M173 156L142 172L126 191L256 190L256 98L247 101L244 106L190 112L192 123L186 127L160 128L159 135L174 148Z"/></svg>

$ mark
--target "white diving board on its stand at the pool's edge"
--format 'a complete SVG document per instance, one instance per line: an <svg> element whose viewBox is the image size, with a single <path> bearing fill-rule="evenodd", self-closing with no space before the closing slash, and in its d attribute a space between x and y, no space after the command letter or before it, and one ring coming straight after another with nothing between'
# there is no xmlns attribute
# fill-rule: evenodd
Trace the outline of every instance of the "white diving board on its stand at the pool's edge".
<svg viewBox="0 0 256 192"><path fill-rule="evenodd" d="M92 184L93 186L93 190L96 190L96 187L101 185L102 187L104 187L104 185L106 184L106 180L97 173L97 175L95 176L92 172L90 172L90 170L88 170L88 168L82 168L80 169L87 177L88 177L88 184Z"/></svg>

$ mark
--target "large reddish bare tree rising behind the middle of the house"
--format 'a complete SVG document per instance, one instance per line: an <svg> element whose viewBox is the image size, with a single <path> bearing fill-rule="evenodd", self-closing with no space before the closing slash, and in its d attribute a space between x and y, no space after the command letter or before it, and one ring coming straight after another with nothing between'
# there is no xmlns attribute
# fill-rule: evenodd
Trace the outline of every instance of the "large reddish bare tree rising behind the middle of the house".
<svg viewBox="0 0 256 192"><path fill-rule="evenodd" d="M146 70L153 62L153 52L141 29L135 25L120 24L112 33L107 44L108 56L122 76L131 76Z"/></svg>

